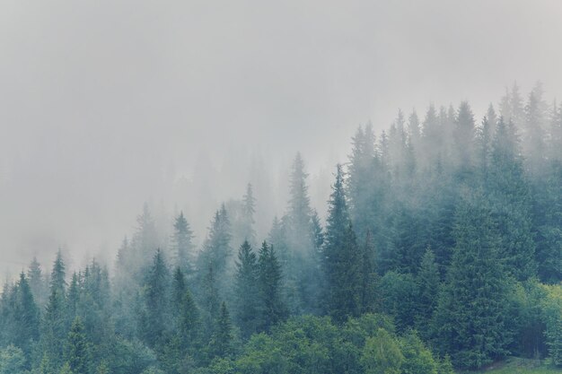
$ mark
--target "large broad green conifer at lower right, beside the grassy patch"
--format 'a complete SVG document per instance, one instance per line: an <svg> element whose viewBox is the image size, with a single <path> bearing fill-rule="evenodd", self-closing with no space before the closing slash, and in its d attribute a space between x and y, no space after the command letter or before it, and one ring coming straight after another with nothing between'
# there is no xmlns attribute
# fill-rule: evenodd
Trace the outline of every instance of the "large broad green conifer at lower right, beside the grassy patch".
<svg viewBox="0 0 562 374"><path fill-rule="evenodd" d="M510 331L501 238L481 196L466 196L456 213L456 245L435 310L437 347L461 368L480 368L506 354Z"/></svg>

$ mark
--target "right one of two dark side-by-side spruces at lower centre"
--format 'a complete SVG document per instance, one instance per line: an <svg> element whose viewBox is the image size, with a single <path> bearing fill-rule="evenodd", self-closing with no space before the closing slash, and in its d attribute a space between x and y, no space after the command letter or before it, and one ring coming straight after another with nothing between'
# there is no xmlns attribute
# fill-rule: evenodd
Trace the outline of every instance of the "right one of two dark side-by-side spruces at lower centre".
<svg viewBox="0 0 562 374"><path fill-rule="evenodd" d="M259 249L258 259L260 329L263 331L269 331L271 326L284 321L287 317L281 292L282 279L281 265L277 261L275 250L264 241Z"/></svg>

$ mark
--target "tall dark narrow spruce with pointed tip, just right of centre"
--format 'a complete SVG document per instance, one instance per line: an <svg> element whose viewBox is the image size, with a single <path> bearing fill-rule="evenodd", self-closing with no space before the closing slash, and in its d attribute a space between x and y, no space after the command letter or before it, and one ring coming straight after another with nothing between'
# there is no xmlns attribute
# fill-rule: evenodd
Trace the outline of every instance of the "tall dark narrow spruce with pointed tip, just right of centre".
<svg viewBox="0 0 562 374"><path fill-rule="evenodd" d="M341 165L329 199L324 247L324 274L329 314L339 323L359 314L361 306L361 257L351 227Z"/></svg>

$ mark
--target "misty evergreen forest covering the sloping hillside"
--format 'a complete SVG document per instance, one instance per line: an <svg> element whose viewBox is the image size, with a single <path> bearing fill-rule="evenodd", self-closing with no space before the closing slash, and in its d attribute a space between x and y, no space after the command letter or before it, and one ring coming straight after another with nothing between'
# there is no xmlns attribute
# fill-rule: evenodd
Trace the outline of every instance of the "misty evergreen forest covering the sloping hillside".
<svg viewBox="0 0 562 374"><path fill-rule="evenodd" d="M248 184L202 246L145 205L114 264L30 258L4 283L0 373L562 370L562 109L514 85L481 118L463 101L359 126L326 217L296 154L263 238Z"/></svg>

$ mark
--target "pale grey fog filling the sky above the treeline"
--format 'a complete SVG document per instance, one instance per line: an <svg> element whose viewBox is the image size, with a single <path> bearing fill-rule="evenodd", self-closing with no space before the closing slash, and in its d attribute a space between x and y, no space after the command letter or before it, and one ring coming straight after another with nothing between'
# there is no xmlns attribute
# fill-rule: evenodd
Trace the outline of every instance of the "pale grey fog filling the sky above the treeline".
<svg viewBox="0 0 562 374"><path fill-rule="evenodd" d="M262 237L297 151L323 213L360 124L461 100L479 120L514 81L562 97L560 20L556 0L3 0L0 275L57 248L112 262L145 202L200 243L249 181Z"/></svg>

